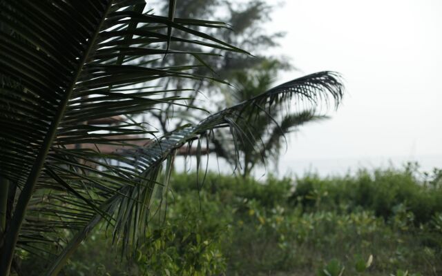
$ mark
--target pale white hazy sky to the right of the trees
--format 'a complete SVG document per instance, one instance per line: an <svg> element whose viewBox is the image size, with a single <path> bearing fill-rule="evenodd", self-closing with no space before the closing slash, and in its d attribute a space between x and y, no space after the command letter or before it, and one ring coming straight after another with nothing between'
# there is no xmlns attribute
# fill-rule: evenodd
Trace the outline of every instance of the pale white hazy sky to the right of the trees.
<svg viewBox="0 0 442 276"><path fill-rule="evenodd" d="M276 8L268 28L287 36L275 52L300 69L281 80L334 70L347 86L332 119L290 138L283 166L423 155L442 165L441 14L440 0L288 0Z"/></svg>

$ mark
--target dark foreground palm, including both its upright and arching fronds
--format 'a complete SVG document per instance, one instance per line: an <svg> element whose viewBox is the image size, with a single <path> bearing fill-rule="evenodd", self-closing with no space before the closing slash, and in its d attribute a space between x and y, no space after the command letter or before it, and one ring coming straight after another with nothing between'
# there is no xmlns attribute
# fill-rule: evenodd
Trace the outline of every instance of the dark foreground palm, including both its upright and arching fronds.
<svg viewBox="0 0 442 276"><path fill-rule="evenodd" d="M167 175L175 149L220 127L247 139L238 121L279 101L340 101L337 76L320 72L195 126L155 135L133 116L161 103L186 106L185 97L152 88L155 81L211 78L193 73L200 65L153 68L150 61L193 55L198 63L220 50L244 52L193 29L225 28L224 23L174 18L175 1L170 2L168 17L149 14L146 3L137 0L0 2L0 275L8 275L18 248L58 256L48 269L48 275L56 275L102 220L130 253L148 222L153 188L163 185L158 175L164 161ZM173 29L194 39L174 37ZM216 51L180 52L173 41ZM127 119L115 126L88 123L114 116ZM141 148L131 144L140 135L155 142ZM97 150L81 144L97 144ZM100 144L129 149L103 154ZM166 184L168 177L162 179ZM66 237L66 230L72 235ZM61 250L48 250L54 244Z"/></svg>

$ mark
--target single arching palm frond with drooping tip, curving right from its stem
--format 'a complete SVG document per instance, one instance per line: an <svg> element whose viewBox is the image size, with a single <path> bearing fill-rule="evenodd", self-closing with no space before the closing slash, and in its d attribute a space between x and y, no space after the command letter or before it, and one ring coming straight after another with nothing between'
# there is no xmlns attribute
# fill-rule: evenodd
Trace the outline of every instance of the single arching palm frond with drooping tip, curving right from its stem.
<svg viewBox="0 0 442 276"><path fill-rule="evenodd" d="M243 119L242 113L247 108L256 108L258 105L261 108L253 110L260 113L263 108L268 108L267 105L274 103L276 101L275 98L278 98L278 101L282 101L279 97L284 97L287 100L291 99L291 97L296 97L297 99L315 101L317 103L320 99L329 102L329 98L339 102L343 95L343 86L338 81L338 75L333 72L320 72L290 81L289 83L284 83L253 99L217 112L200 121L199 124L183 126L160 137L155 140L155 143L148 144L146 147L124 150L122 156L126 166L133 168L137 175L144 175L145 179L139 180L140 185L124 186L119 190L119 194L113 194L100 207L106 215L113 217L109 223L113 227L114 240L122 243L123 252L130 253L130 248L137 248L140 239L142 241L140 233L144 232L149 221L151 199L155 186L159 184L157 177L162 169L162 163L166 159L170 162L173 152L177 148L182 147L186 143L191 143L195 139L198 141L209 139L210 132L216 128L230 128L231 132L237 133L240 136L236 139L248 139L247 136L249 134L239 127L239 122ZM330 83L336 84L336 86ZM310 97L305 97L306 90L311 93ZM315 93L316 95L322 95L316 96L318 97L316 99L314 97ZM251 112L250 109L247 111ZM287 121L287 128L294 124L302 124L302 122L314 116L311 112L302 113L297 119ZM170 172L171 166L169 162L166 167ZM199 166L197 169L199 169ZM66 262L66 259L73 253L76 246L86 238L90 228L97 225L101 219L101 215L96 215L86 223L83 229L79 230L75 238L61 252L57 258L59 262L55 262L55 265L49 270L50 273L59 271L63 262ZM55 275L50 273L48 275Z"/></svg>

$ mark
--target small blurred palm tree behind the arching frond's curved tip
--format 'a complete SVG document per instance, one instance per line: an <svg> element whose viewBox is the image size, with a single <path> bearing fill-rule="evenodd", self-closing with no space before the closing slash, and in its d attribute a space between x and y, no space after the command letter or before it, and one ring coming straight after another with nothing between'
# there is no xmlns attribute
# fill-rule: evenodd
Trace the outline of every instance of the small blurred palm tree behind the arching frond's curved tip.
<svg viewBox="0 0 442 276"><path fill-rule="evenodd" d="M229 82L235 87L224 90L225 106L248 101L273 86L278 72L287 69L287 64L276 59L262 61L249 70L235 70ZM290 112L287 102L275 103L259 115L247 115L238 122L239 128L248 132L247 140L239 139L234 146L231 135L218 130L213 136L214 151L218 157L226 159L235 168L240 167L242 177L248 177L256 166L266 165L268 160L277 166L280 150L285 144L285 135L311 121L325 119L318 115L314 106L298 112ZM237 155L236 148L240 151Z"/></svg>

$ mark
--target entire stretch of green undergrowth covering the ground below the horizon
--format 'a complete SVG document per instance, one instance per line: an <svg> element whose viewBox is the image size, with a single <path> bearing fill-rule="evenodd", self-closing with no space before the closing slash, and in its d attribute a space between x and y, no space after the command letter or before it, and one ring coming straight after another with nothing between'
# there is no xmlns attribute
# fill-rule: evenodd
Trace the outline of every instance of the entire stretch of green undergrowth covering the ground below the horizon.
<svg viewBox="0 0 442 276"><path fill-rule="evenodd" d="M122 265L95 231L63 273L442 275L441 176L412 165L266 181L209 173L198 186L175 174L135 259Z"/></svg>

